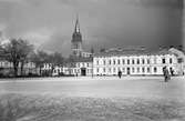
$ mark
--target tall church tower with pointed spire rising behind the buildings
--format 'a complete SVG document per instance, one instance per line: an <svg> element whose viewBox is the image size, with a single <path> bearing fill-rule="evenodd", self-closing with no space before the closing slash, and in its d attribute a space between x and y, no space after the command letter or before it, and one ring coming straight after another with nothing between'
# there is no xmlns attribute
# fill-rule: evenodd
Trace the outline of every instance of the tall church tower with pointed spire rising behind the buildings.
<svg viewBox="0 0 185 121"><path fill-rule="evenodd" d="M82 57L82 34L80 32L80 23L79 18L76 18L74 32L72 34L71 40L71 49L72 49L72 56L74 57Z"/></svg>

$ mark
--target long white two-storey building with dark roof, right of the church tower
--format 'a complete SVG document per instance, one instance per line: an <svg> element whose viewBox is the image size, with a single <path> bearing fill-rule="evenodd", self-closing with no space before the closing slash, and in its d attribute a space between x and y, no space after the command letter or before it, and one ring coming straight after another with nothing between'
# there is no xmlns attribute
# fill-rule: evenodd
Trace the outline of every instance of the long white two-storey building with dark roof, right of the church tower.
<svg viewBox="0 0 185 121"><path fill-rule="evenodd" d="M162 75L167 67L174 74L179 74L179 63L176 54L167 49L148 52L142 49L111 49L97 53L93 59L95 75Z"/></svg>

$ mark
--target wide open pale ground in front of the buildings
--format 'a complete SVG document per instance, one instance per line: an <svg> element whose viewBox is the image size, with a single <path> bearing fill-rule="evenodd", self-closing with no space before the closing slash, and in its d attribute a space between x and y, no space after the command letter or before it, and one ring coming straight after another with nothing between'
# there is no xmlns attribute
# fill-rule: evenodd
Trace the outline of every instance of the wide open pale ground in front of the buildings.
<svg viewBox="0 0 185 121"><path fill-rule="evenodd" d="M0 121L185 121L184 102L184 77L0 81Z"/></svg>

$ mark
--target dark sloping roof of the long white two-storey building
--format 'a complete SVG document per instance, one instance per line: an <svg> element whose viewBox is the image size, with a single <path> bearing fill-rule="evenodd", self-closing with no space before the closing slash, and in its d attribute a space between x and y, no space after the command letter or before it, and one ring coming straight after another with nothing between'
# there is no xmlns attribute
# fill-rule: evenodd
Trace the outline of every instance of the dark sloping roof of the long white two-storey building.
<svg viewBox="0 0 185 121"><path fill-rule="evenodd" d="M156 56L156 54L172 54L168 49L160 49L150 51L146 49L110 49L104 52L95 53L94 57L113 57L113 56Z"/></svg>

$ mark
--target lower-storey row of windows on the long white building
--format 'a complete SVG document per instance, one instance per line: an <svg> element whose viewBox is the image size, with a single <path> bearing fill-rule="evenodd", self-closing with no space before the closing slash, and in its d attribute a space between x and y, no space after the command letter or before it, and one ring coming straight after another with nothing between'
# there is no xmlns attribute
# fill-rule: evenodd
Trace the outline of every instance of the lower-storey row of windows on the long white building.
<svg viewBox="0 0 185 121"><path fill-rule="evenodd" d="M150 72L152 72L152 68L109 68L109 69L106 69L106 68L103 68L103 72L110 72L110 73L112 73L112 72L117 72L117 71L122 71L123 73L125 73L125 72L127 72L127 73L135 73L135 72L137 72L137 73L140 73L140 72L143 72L143 73L145 73L145 72L147 72L147 73L150 73ZM99 73L100 72L100 68L96 68L96 72ZM154 67L153 68L153 72L157 72L157 68L156 67Z"/></svg>

